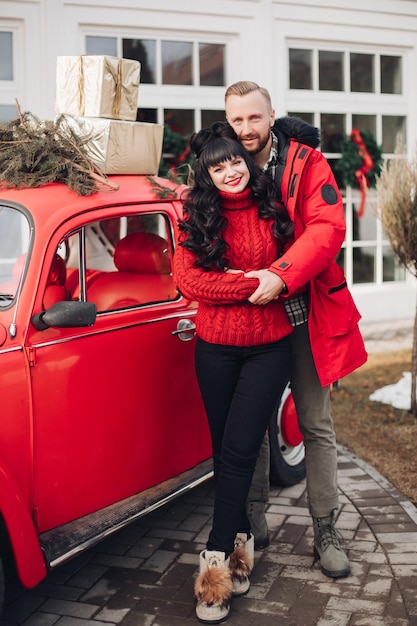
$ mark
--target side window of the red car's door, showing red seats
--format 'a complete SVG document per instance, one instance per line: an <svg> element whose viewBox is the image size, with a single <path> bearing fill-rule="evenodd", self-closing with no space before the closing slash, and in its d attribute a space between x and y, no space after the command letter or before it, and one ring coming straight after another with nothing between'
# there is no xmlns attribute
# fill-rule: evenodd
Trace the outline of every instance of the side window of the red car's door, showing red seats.
<svg viewBox="0 0 417 626"><path fill-rule="evenodd" d="M162 213L87 224L68 237L65 248L71 298L86 297L98 313L178 298L169 222Z"/></svg>

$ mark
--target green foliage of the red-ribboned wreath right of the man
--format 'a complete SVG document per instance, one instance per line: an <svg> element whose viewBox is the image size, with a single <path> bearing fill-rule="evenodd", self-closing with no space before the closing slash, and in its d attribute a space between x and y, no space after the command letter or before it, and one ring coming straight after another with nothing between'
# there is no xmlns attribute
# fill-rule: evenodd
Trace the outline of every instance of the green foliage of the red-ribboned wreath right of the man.
<svg viewBox="0 0 417 626"><path fill-rule="evenodd" d="M361 132L360 135L373 161L373 167L365 173L368 187L375 187L376 179L381 173L383 163L382 150L376 143L372 133L364 131ZM343 183L346 186L349 185L357 189L359 188L356 172L363 168L363 164L364 159L360 154L359 146L351 135L346 136L342 142L342 157L335 166L335 168L342 173Z"/></svg>

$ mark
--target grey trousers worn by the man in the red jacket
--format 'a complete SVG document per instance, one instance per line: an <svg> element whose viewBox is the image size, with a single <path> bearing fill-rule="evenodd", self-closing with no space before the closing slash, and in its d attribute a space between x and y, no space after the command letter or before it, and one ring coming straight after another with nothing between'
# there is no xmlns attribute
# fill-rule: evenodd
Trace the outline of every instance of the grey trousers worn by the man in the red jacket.
<svg viewBox="0 0 417 626"><path fill-rule="evenodd" d="M307 323L294 328L291 349L291 390L304 436L308 505L311 515L324 517L339 506L337 449L330 413L330 387L323 388L317 376ZM263 445L266 445L266 441ZM247 500L248 509L252 501L259 501L261 495L268 493L265 485L269 485L269 456L267 460L265 456L260 453L258 457ZM265 505L267 500L266 495Z"/></svg>

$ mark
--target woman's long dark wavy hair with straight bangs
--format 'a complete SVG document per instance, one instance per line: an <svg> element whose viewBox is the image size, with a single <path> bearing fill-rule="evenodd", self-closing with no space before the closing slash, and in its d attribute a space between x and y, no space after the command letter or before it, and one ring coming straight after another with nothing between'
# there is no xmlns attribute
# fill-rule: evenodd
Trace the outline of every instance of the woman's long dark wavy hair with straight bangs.
<svg viewBox="0 0 417 626"><path fill-rule="evenodd" d="M273 219L272 230L279 247L293 234L294 225L285 208L276 201L276 190L269 174L263 172L241 144L230 136L227 125L216 123L194 133L190 147L196 155L193 186L184 203L184 219L179 222L180 245L196 257L196 266L209 270L229 266L223 233L227 224L222 215L222 199L208 168L223 161L242 158L249 170L248 187L258 203L260 219Z"/></svg>

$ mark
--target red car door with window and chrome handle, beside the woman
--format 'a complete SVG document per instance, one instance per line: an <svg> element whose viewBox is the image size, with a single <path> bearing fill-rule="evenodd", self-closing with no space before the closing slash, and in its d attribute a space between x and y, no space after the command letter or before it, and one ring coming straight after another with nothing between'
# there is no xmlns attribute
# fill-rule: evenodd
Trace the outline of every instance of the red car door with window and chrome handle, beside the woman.
<svg viewBox="0 0 417 626"><path fill-rule="evenodd" d="M107 208L105 219L89 214L73 231L67 227L55 249L58 235L51 241L45 272L51 269L37 307L41 296L42 309L53 304L52 262L60 256L66 272L58 286L66 292L59 290L58 299L95 302L97 318L88 328L30 332L39 531L137 494L211 455L194 333L179 332L192 327L195 305L173 282L175 218L169 203L113 214Z"/></svg>

